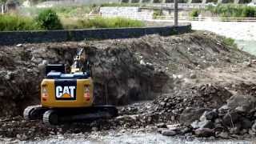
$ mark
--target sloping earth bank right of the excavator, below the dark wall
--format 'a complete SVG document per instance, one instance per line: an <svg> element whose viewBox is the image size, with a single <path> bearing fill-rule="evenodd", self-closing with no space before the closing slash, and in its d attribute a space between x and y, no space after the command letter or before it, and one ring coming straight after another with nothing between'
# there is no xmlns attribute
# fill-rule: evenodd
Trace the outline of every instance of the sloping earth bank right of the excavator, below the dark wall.
<svg viewBox="0 0 256 144"><path fill-rule="evenodd" d="M226 46L222 38L202 32L87 42L85 48L94 66L96 96L116 105L169 93L186 81L178 75L184 71L230 66L252 58Z"/></svg>

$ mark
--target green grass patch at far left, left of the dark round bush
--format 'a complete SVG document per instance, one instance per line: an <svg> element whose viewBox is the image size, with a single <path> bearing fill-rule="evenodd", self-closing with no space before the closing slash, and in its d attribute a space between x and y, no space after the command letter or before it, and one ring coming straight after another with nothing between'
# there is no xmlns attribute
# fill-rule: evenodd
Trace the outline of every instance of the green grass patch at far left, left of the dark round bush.
<svg viewBox="0 0 256 144"><path fill-rule="evenodd" d="M0 31L42 30L32 18L0 14Z"/></svg>

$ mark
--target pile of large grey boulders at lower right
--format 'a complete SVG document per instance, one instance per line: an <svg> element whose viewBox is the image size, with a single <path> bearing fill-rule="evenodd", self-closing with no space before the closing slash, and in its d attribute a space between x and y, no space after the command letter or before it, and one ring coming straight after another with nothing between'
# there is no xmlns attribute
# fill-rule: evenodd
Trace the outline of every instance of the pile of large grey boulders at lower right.
<svg viewBox="0 0 256 144"><path fill-rule="evenodd" d="M253 138L256 134L255 104L254 96L233 95L218 109L187 107L179 119L186 132L198 137Z"/></svg>

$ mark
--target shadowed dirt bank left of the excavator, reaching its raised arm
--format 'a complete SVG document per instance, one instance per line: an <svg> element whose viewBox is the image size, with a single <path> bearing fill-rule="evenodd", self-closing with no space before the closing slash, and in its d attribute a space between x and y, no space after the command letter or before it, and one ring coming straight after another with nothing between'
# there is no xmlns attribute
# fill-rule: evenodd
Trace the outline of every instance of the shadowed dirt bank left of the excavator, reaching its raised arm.
<svg viewBox="0 0 256 144"><path fill-rule="evenodd" d="M76 49L39 45L2 47L0 52L0 115L22 114L39 102L43 63L70 64Z"/></svg>

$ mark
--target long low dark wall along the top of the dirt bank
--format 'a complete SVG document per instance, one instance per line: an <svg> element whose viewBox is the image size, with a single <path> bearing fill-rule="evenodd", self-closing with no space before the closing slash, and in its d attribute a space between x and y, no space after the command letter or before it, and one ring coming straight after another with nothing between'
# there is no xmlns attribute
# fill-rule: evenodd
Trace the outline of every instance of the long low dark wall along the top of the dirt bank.
<svg viewBox="0 0 256 144"><path fill-rule="evenodd" d="M190 32L191 25L122 28L122 29L92 29L92 30L51 30L51 31L17 31L0 32L0 46L18 43L38 42L66 42L82 41L84 39L113 39L113 38L138 38L146 34L182 34Z"/></svg>

